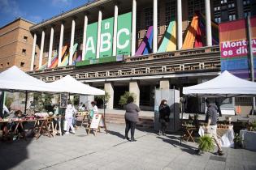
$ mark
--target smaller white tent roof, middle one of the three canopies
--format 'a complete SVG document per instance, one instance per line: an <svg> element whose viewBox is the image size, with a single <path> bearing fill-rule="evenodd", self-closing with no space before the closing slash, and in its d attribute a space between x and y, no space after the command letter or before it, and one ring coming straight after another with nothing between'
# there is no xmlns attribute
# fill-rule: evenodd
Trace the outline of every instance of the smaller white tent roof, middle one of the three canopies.
<svg viewBox="0 0 256 170"><path fill-rule="evenodd" d="M64 92L72 93L72 94L81 94L81 95L92 95L92 96L103 96L105 95L105 91L101 89L91 87L87 84L80 83L76 79L72 78L72 76L67 75L63 79L59 79L53 83L50 83L55 87L62 88Z"/></svg>

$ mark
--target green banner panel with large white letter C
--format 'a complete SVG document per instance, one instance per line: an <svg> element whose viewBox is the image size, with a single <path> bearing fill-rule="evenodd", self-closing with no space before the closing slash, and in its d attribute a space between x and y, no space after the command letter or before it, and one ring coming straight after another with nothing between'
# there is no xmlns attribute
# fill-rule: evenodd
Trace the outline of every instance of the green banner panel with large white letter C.
<svg viewBox="0 0 256 170"><path fill-rule="evenodd" d="M118 16L117 27L117 53L116 55L131 54L131 29L132 29L132 12Z"/></svg>

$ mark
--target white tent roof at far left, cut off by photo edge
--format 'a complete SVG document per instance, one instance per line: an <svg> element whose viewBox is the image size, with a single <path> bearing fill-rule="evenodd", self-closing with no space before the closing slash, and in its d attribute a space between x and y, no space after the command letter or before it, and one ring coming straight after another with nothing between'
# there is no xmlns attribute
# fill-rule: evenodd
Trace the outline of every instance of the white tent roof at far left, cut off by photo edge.
<svg viewBox="0 0 256 170"><path fill-rule="evenodd" d="M0 73L0 90L60 92L59 89L50 84L24 73L17 66L12 66Z"/></svg>

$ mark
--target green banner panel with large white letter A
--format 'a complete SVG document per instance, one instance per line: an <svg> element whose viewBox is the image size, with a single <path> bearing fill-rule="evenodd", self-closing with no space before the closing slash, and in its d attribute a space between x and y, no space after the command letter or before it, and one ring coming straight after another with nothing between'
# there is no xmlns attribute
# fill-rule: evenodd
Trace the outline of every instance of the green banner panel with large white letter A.
<svg viewBox="0 0 256 170"><path fill-rule="evenodd" d="M97 34L98 22L89 24L86 32L85 59L96 58Z"/></svg>

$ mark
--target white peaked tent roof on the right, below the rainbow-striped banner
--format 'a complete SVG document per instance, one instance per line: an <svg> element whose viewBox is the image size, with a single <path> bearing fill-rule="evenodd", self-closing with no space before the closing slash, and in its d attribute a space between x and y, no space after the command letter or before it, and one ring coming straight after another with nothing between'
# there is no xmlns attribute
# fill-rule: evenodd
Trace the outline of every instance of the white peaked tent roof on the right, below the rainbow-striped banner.
<svg viewBox="0 0 256 170"><path fill-rule="evenodd" d="M225 70L215 79L184 87L183 94L201 97L256 96L256 83L240 79Z"/></svg>

